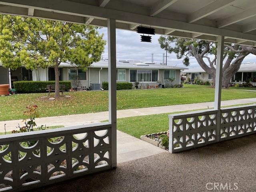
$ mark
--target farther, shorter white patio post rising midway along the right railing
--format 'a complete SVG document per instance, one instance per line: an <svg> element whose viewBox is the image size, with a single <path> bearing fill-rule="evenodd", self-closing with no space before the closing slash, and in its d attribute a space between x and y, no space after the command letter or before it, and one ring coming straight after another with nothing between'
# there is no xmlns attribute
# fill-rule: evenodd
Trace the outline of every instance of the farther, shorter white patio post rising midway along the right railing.
<svg viewBox="0 0 256 192"><path fill-rule="evenodd" d="M215 74L215 96L214 96L214 109L218 110L217 114L217 132L216 141L220 141L220 103L221 103L221 88L222 88L222 63L224 52L224 36L218 36L217 47L217 61L216 61L216 74Z"/></svg>

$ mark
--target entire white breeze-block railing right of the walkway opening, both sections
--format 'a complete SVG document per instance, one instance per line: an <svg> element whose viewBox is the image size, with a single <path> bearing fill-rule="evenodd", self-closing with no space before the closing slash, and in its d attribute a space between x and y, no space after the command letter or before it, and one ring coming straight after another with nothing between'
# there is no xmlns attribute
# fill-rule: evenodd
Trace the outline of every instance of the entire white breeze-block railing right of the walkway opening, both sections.
<svg viewBox="0 0 256 192"><path fill-rule="evenodd" d="M224 108L220 113L205 110L172 114L169 118L169 151L172 153L256 132L256 105Z"/></svg>

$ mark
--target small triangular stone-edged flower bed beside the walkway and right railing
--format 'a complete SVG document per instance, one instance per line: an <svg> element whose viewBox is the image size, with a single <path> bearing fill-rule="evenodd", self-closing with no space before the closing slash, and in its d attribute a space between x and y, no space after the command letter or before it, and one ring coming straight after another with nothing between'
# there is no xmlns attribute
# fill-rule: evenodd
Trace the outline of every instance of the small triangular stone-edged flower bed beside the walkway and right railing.
<svg viewBox="0 0 256 192"><path fill-rule="evenodd" d="M142 135L140 139L162 149L169 150L169 131Z"/></svg>

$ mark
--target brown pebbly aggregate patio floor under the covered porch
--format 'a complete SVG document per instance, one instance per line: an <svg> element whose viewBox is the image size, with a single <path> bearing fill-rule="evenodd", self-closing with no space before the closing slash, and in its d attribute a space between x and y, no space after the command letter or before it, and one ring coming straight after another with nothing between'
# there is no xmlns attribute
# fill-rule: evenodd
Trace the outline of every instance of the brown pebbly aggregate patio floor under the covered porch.
<svg viewBox="0 0 256 192"><path fill-rule="evenodd" d="M37 192L204 192L256 191L256 134L170 154L118 164L116 170L47 186ZM228 183L238 190L207 190ZM213 184L208 184L212 188ZM218 187L220 189L220 187Z"/></svg>

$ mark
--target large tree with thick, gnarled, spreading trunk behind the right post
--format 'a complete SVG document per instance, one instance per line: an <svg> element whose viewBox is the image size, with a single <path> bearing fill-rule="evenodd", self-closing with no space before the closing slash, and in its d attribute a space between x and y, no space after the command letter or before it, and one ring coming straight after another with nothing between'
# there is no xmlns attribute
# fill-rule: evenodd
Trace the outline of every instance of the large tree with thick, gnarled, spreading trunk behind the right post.
<svg viewBox="0 0 256 192"><path fill-rule="evenodd" d="M186 39L173 36L160 36L158 39L161 48L167 48L169 53L175 53L178 59L183 58L185 66L189 66L189 58L196 58L198 64L213 78L215 86L217 44L198 39ZM169 45L169 46L166 46ZM256 49L238 44L224 44L224 62L222 69L222 86L228 87L230 79L238 72L242 61L249 54L256 54ZM253 53L255 51L255 53ZM210 56L212 55L212 57Z"/></svg>

